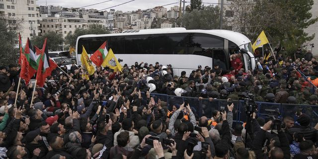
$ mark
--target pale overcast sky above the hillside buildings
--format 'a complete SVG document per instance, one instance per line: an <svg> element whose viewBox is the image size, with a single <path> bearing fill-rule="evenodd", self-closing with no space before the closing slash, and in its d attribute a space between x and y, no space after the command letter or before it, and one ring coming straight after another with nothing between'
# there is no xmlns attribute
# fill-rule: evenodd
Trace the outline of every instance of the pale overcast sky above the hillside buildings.
<svg viewBox="0 0 318 159"><path fill-rule="evenodd" d="M81 7L81 6L99 3L99 2L103 2L103 1L107 1L107 0L37 0L36 2L38 5L45 5L46 1L47 1L48 5L60 5L63 7ZM127 2L127 1L130 1L130 0L111 0L108 2L101 3L101 4L87 6L85 8L86 9L94 8L94 9L100 10L100 9L108 8L108 7L118 5L118 4ZM171 6L179 5L178 1L179 0L134 0L134 1L131 1L131 2L123 4L123 5L112 7L112 9L122 10L122 11L132 11L132 10L138 10L138 9L144 10L144 9L148 9L148 8L153 8L155 6L159 6L159 5L161 6L161 5L166 5L169 3L176 2L175 4L164 6L165 8L167 8L169 10ZM190 0L186 0L186 1L190 2ZM202 1L203 2L217 2L217 0L202 0ZM186 2L185 5L190 4L189 2ZM205 4L205 5L207 5L207 4ZM106 10L109 11L110 9L106 9Z"/></svg>

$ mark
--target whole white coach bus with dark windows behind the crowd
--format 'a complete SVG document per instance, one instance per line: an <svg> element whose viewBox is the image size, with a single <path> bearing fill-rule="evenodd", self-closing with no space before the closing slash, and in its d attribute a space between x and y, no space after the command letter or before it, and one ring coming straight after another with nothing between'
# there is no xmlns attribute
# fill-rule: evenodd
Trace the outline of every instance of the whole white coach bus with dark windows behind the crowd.
<svg viewBox="0 0 318 159"><path fill-rule="evenodd" d="M186 71L187 76L198 65L203 68L218 64L223 70L231 68L230 55L241 49L243 68L253 70L255 59L251 41L241 33L229 30L186 30L185 28L126 30L118 34L79 36L76 43L80 65L82 45L92 55L105 41L122 65L147 62L155 65L171 64L174 75Z"/></svg>

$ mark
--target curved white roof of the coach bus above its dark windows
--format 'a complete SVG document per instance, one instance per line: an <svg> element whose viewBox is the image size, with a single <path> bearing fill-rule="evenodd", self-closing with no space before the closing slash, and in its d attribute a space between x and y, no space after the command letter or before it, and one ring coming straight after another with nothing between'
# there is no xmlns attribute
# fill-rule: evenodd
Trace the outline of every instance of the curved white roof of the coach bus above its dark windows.
<svg viewBox="0 0 318 159"><path fill-rule="evenodd" d="M186 30L185 28L164 28L164 29L142 29L142 30L125 30L116 34L89 34L82 35L79 38L86 37L104 37L104 36L125 36L125 35L145 35L145 34L168 34L168 33L206 33L222 37L241 46L251 41L243 34L231 30Z"/></svg>

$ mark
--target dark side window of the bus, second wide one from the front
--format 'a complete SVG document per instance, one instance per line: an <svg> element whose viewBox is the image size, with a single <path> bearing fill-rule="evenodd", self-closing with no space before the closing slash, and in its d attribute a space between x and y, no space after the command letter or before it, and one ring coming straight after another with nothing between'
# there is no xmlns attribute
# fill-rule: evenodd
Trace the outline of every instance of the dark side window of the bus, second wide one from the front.
<svg viewBox="0 0 318 159"><path fill-rule="evenodd" d="M187 33L155 34L154 54L187 54Z"/></svg>

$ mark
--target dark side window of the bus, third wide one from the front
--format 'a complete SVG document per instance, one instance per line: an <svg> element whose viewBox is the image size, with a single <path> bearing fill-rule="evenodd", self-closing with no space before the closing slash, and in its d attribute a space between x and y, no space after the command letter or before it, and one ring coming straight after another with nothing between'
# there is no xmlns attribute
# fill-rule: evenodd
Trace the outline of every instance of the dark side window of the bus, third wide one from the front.
<svg viewBox="0 0 318 159"><path fill-rule="evenodd" d="M153 54L154 38L150 35L125 36L125 54Z"/></svg>

